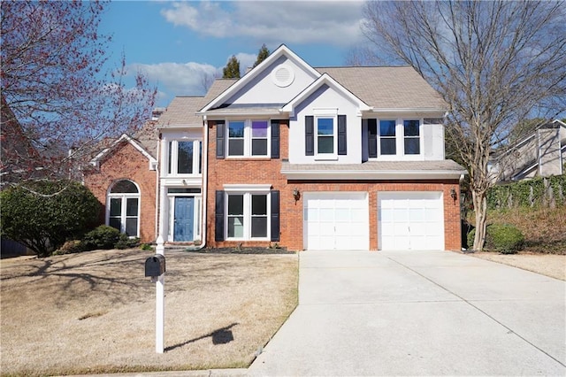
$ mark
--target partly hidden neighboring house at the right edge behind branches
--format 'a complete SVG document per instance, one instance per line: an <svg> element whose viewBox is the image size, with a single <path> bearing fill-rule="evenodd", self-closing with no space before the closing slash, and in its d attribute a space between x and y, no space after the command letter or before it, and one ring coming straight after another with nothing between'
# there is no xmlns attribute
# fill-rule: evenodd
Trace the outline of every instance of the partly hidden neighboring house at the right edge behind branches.
<svg viewBox="0 0 566 377"><path fill-rule="evenodd" d="M538 127L500 156L490 161L493 181L521 181L561 175L566 163L566 124L554 120Z"/></svg>

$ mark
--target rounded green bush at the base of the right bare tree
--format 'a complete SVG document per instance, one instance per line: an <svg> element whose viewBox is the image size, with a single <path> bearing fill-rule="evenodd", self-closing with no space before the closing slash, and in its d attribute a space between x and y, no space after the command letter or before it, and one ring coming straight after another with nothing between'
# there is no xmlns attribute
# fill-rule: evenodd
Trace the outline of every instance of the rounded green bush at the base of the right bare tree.
<svg viewBox="0 0 566 377"><path fill-rule="evenodd" d="M474 242L476 229L468 234L468 244ZM515 254L523 250L524 235L521 231L509 224L491 224L486 229L485 250L499 251L501 254Z"/></svg>

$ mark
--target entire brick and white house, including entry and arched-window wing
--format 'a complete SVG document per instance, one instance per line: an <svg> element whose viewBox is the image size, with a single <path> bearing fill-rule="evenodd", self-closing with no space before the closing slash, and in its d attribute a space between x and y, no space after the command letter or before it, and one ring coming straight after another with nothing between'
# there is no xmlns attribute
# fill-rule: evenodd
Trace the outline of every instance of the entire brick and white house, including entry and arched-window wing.
<svg viewBox="0 0 566 377"><path fill-rule="evenodd" d="M123 135L85 181L106 223L120 203L126 231L139 195L158 249L460 250L465 170L445 158L446 112L410 67L313 68L282 45L240 80L173 99L155 134Z"/></svg>

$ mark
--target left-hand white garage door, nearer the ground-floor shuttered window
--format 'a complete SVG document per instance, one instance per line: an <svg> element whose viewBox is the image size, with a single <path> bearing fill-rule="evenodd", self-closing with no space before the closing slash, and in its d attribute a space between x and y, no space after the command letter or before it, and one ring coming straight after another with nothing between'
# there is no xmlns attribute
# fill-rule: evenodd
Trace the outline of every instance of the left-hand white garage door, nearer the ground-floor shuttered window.
<svg viewBox="0 0 566 377"><path fill-rule="evenodd" d="M368 250L367 193L305 193L303 240L306 250Z"/></svg>

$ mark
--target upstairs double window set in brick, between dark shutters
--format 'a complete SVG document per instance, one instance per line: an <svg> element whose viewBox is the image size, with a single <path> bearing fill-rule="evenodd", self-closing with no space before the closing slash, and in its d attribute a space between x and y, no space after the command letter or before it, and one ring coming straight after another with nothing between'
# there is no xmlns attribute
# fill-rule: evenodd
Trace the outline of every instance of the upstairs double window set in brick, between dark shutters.
<svg viewBox="0 0 566 377"><path fill-rule="evenodd" d="M228 122L228 157L270 156L270 126L267 120Z"/></svg>

